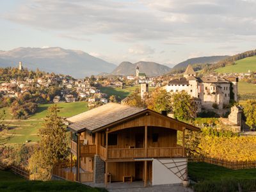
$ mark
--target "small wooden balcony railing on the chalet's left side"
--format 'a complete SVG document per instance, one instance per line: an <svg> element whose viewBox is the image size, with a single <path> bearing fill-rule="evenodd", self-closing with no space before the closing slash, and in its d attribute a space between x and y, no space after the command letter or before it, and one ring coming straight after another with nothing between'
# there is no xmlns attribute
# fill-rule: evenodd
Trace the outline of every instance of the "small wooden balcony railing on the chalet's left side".
<svg viewBox="0 0 256 192"><path fill-rule="evenodd" d="M71 151L77 154L77 143L76 141L71 141ZM81 157L94 156L96 154L96 145L83 145L80 141L80 154Z"/></svg>

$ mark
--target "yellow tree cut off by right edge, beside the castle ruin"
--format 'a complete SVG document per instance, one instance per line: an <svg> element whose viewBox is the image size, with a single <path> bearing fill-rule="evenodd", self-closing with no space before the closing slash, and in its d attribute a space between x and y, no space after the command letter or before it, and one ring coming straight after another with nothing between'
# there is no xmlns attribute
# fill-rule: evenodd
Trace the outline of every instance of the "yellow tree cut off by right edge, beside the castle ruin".
<svg viewBox="0 0 256 192"><path fill-rule="evenodd" d="M244 105L244 115L246 116L246 124L251 129L256 125L256 100L247 100Z"/></svg>

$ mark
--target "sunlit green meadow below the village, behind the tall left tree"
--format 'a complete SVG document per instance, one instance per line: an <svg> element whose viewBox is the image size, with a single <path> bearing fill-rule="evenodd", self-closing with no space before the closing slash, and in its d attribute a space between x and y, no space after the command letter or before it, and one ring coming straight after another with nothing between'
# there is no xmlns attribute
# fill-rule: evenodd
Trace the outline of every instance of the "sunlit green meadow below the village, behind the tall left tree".
<svg viewBox="0 0 256 192"><path fill-rule="evenodd" d="M44 123L44 118L47 115L47 109L52 104L40 104L35 115L32 115L28 120L12 120L10 108L2 108L1 111L6 111L6 124L11 128L7 134L12 135L8 143L25 143L26 141L35 142L40 138L37 133ZM83 113L88 110L87 102L71 102L58 103L60 108L60 116L70 117Z"/></svg>

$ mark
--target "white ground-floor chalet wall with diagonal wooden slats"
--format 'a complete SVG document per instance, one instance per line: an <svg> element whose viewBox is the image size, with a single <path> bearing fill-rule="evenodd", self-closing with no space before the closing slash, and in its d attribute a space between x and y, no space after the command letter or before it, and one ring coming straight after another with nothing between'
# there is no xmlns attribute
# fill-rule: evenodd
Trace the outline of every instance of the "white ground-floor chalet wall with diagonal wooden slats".
<svg viewBox="0 0 256 192"><path fill-rule="evenodd" d="M178 167L172 168L175 164L177 164ZM154 159L152 162L152 185L182 183L182 180L187 177L187 167L188 163L186 158ZM181 171L179 172L179 170ZM177 175L174 173L177 173Z"/></svg>

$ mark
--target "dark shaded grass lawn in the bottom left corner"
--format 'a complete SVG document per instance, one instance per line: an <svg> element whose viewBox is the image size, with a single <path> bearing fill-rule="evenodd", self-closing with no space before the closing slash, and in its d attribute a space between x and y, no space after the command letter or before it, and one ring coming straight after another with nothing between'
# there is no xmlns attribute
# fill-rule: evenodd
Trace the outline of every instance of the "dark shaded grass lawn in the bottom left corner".
<svg viewBox="0 0 256 192"><path fill-rule="evenodd" d="M0 171L0 191L106 191L106 189L91 188L78 182L64 180L31 181L25 180L12 172Z"/></svg>

